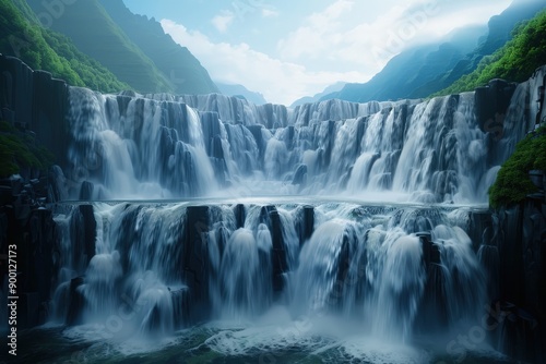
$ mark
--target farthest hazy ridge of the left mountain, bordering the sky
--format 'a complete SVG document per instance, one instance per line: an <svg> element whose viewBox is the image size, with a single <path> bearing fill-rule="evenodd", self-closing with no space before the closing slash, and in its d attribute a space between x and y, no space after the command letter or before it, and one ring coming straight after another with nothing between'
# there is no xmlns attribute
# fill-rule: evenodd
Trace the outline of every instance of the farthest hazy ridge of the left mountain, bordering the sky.
<svg viewBox="0 0 546 364"><path fill-rule="evenodd" d="M154 19L135 15L122 0L100 0L108 15L170 81L176 94L211 94L218 88L188 48L179 46Z"/></svg>

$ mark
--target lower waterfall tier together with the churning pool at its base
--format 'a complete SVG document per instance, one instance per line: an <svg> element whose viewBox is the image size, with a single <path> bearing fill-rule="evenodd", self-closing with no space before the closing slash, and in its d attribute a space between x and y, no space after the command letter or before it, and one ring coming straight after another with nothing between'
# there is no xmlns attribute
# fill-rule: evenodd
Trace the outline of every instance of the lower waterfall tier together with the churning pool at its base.
<svg viewBox="0 0 546 364"><path fill-rule="evenodd" d="M20 335L17 360L502 362L470 238L486 209L302 199L58 206L51 319Z"/></svg>

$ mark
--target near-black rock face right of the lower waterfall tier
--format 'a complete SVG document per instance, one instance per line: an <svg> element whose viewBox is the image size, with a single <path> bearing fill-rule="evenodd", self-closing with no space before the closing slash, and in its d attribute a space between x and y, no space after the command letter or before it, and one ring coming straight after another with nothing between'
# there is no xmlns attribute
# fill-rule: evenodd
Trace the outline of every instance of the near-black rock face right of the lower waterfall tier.
<svg viewBox="0 0 546 364"><path fill-rule="evenodd" d="M502 312L500 350L532 363L546 361L546 201L530 196L494 215L500 289L494 304ZM506 316L506 319L505 319Z"/></svg>

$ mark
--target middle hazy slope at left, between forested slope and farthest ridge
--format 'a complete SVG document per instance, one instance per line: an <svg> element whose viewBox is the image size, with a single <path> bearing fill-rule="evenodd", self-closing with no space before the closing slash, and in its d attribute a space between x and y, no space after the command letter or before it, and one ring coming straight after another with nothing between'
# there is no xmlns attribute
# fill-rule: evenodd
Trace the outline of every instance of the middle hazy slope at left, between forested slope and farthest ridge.
<svg viewBox="0 0 546 364"><path fill-rule="evenodd" d="M45 11L41 0L27 0L36 14ZM98 0L74 1L50 22L51 29L67 35L120 81L139 92L173 92L171 83L154 62L111 20Z"/></svg>

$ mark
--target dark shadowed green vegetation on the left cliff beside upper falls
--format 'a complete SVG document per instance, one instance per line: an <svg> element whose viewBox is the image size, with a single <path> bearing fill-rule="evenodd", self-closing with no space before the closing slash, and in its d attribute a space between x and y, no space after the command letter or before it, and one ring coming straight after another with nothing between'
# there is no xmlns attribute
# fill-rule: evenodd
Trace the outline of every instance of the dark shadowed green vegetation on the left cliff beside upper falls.
<svg viewBox="0 0 546 364"><path fill-rule="evenodd" d="M52 161L52 154L37 144L33 134L0 121L0 177L16 174L21 168L46 170Z"/></svg>

